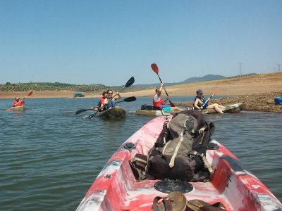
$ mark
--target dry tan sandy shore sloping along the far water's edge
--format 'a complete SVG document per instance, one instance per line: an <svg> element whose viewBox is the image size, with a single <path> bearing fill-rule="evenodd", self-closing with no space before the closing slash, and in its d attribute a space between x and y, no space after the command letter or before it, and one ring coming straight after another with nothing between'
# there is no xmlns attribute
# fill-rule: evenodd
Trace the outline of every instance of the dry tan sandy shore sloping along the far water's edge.
<svg viewBox="0 0 282 211"><path fill-rule="evenodd" d="M247 110L263 110L282 112L282 106L273 104L275 96L282 96L282 72L238 77L233 79L220 79L209 82L197 82L166 87L170 96L195 96L195 91L202 89L204 96L210 96L216 90L220 96L237 96L214 100L214 103L223 105L238 102L247 102ZM0 91L0 98L20 98L26 96L28 91ZM73 98L74 91L33 91L28 98ZM99 93L83 93L85 98L99 97ZM154 89L122 93L121 96L152 96ZM185 105L190 105L187 102ZM183 104L183 105L184 105Z"/></svg>

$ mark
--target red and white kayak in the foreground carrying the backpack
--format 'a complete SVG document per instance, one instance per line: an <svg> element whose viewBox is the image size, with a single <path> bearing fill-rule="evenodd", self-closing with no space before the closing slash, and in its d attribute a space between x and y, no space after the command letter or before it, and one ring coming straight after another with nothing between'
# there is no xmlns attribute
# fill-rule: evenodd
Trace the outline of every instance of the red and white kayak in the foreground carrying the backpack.
<svg viewBox="0 0 282 211"><path fill-rule="evenodd" d="M77 210L151 210L153 200L167 193L157 191L160 182L136 181L128 160L136 153L147 155L168 117L156 117L123 143L99 173ZM192 191L187 200L222 203L226 210L281 210L282 204L262 181L245 170L238 158L217 141L219 148L207 150L214 174L208 182L184 182ZM180 184L180 181L171 181Z"/></svg>

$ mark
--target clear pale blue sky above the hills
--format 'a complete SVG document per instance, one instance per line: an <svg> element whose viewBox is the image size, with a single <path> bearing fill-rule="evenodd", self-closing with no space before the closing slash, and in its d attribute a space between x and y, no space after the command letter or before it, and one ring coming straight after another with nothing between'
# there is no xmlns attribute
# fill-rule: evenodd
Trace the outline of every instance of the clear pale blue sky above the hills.
<svg viewBox="0 0 282 211"><path fill-rule="evenodd" d="M0 84L282 70L282 1L0 0ZM241 68L240 68L241 64Z"/></svg>

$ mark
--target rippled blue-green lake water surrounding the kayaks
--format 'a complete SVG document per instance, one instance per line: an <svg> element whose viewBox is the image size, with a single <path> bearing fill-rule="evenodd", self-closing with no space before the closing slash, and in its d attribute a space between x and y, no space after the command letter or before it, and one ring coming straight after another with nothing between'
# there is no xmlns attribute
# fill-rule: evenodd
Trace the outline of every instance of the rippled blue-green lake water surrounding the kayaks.
<svg viewBox="0 0 282 211"><path fill-rule="evenodd" d="M192 98L172 98L173 102ZM134 111L151 98L120 103L125 120L83 119L97 98L27 99L6 112L0 100L0 210L75 210L107 160L152 117ZM281 113L207 115L213 138L226 146L282 200Z"/></svg>

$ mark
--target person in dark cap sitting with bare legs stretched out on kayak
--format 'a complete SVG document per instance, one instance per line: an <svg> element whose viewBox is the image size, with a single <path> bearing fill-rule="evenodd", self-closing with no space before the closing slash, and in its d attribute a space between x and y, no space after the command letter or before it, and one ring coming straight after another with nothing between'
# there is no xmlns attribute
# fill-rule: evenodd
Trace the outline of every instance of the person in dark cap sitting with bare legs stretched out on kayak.
<svg viewBox="0 0 282 211"><path fill-rule="evenodd" d="M204 98L202 89L198 89L196 91L197 96L195 96L195 103L194 108L197 110L207 109L207 108L214 108L217 113L223 113L221 108L225 108L225 106L221 106L217 103L214 103L212 105L209 105L210 98Z"/></svg>

